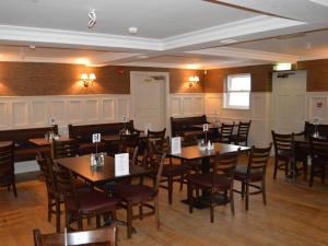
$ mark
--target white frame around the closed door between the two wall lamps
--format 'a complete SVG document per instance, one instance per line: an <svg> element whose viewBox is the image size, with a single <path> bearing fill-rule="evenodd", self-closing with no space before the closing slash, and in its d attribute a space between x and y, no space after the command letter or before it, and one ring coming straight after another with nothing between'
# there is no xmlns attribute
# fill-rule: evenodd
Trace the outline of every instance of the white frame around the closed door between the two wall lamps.
<svg viewBox="0 0 328 246"><path fill-rule="evenodd" d="M164 77L164 120L166 127L166 134L171 136L171 121L169 121L169 72L156 72L156 71L130 71L130 108L131 117L134 118L134 106L133 102L136 99L136 93L133 91L132 83L136 81L136 75L145 75L145 77Z"/></svg>

